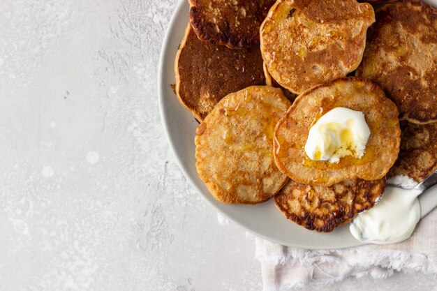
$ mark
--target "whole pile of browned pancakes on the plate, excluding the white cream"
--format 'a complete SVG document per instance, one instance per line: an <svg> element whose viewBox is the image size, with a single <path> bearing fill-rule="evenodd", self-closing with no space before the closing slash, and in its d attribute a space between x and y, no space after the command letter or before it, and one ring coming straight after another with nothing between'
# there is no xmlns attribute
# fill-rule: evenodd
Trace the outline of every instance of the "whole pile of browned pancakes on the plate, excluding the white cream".
<svg viewBox="0 0 437 291"><path fill-rule="evenodd" d="M373 207L386 177L422 181L437 169L436 9L419 0L189 2L175 92L200 121L196 167L217 200L274 197L291 221L330 232ZM313 161L309 128L335 107L364 114L364 156Z"/></svg>

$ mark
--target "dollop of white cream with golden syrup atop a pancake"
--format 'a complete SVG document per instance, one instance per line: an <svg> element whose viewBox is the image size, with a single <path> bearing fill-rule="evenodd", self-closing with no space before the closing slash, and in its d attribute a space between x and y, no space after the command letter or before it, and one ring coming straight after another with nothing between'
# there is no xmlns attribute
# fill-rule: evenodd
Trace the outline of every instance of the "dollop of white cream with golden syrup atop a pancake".
<svg viewBox="0 0 437 291"><path fill-rule="evenodd" d="M343 156L362 158L370 129L360 111L336 107L309 130L306 155L313 161L338 163Z"/></svg>

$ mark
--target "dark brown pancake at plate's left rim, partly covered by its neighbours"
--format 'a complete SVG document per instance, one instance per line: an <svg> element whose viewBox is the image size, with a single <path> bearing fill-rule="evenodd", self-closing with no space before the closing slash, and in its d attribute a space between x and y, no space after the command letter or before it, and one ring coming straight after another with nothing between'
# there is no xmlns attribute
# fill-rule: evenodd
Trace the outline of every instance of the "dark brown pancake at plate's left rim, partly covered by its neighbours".
<svg viewBox="0 0 437 291"><path fill-rule="evenodd" d="M258 47L230 50L202 43L189 24L177 51L175 78L179 102L199 121L231 92L265 84Z"/></svg>

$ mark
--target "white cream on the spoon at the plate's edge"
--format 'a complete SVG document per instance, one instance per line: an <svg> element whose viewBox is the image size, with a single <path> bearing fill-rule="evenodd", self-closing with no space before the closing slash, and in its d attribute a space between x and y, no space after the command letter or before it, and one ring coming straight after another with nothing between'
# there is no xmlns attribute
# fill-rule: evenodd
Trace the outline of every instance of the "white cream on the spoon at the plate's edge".
<svg viewBox="0 0 437 291"><path fill-rule="evenodd" d="M420 220L417 196L422 191L387 186L383 198L350 223L350 233L359 241L394 244L411 236Z"/></svg>

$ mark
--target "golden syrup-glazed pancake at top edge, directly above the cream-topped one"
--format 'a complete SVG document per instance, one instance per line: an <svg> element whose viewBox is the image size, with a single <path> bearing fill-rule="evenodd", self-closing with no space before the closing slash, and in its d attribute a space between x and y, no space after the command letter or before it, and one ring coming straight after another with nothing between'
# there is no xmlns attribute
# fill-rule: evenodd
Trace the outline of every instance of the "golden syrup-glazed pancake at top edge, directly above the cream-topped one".
<svg viewBox="0 0 437 291"><path fill-rule="evenodd" d="M277 1L261 24L262 58L276 82L300 94L355 70L373 22L369 3Z"/></svg>

